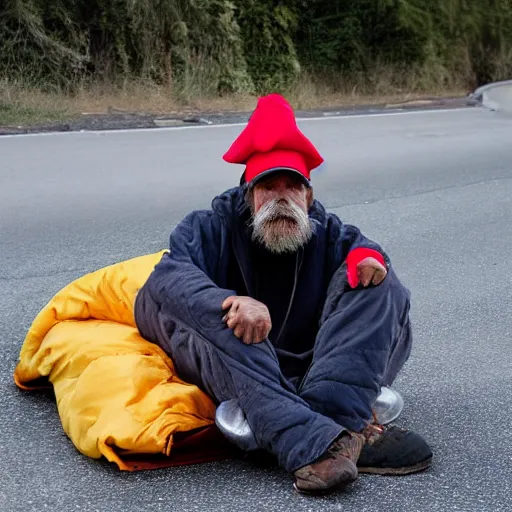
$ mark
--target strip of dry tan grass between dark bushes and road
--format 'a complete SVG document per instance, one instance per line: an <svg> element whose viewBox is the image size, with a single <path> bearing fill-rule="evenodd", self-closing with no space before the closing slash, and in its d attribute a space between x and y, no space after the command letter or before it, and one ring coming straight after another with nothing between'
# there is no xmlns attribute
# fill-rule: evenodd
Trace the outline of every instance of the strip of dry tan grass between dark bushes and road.
<svg viewBox="0 0 512 512"><path fill-rule="evenodd" d="M379 74L373 81L313 81L303 76L283 94L296 109L347 107L362 104L402 103L432 96L464 96L461 87L398 88L390 76ZM195 84L197 85L197 84ZM0 126L25 126L63 122L81 115L132 113L155 116L193 112L248 112L257 98L249 94L214 97L196 94L186 100L169 87L133 80L122 85L83 84L73 93L61 90L43 92L41 88L6 79L0 80Z"/></svg>

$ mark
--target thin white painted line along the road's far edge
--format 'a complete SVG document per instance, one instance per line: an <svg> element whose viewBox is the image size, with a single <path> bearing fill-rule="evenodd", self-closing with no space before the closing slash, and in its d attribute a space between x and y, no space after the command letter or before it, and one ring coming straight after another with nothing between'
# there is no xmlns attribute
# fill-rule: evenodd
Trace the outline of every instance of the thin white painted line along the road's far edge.
<svg viewBox="0 0 512 512"><path fill-rule="evenodd" d="M412 115L424 115L424 114L447 114L452 112L474 112L475 110L482 111L476 107L462 107L462 108L447 108L447 109L436 109L436 110L411 110L406 112L377 112L375 114L340 114L340 115L328 115L321 117L297 117L297 123L304 123L310 121L332 121L337 120L351 120L371 117L392 117L392 116L412 116ZM64 135L107 135L107 134L123 134L123 133L153 133L153 132L167 132L176 130L201 130L201 129L212 129L212 128L230 128L230 127L241 127L247 123L223 123L223 124L210 124L210 125L189 125L189 126L166 126L162 128L127 128L117 130L79 130L69 132L44 132L44 133L19 133L10 135L0 135L0 141L2 139L9 139L13 137L56 137Z"/></svg>

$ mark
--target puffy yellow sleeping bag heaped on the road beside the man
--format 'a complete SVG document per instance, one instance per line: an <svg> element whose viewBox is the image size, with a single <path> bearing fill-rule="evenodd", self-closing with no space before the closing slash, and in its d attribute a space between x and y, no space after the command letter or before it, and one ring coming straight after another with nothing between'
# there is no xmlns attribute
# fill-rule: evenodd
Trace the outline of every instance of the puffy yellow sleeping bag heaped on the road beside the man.
<svg viewBox="0 0 512 512"><path fill-rule="evenodd" d="M124 457L169 457L177 434L214 423L213 402L180 380L169 357L135 326L135 295L163 252L111 265L59 291L35 318L14 372L22 389L47 378L76 448L123 470L134 469Z"/></svg>

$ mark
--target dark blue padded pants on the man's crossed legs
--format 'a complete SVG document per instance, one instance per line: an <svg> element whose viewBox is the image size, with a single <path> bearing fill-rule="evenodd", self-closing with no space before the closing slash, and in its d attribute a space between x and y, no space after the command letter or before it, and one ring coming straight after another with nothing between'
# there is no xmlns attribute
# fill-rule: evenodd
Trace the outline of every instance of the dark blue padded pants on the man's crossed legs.
<svg viewBox="0 0 512 512"><path fill-rule="evenodd" d="M334 276L312 364L298 385L281 373L269 342L222 346L177 327L163 347L185 381L217 403L237 399L258 445L292 472L318 458L345 429L361 431L381 386L411 350L409 292L391 269L377 287L351 290Z"/></svg>

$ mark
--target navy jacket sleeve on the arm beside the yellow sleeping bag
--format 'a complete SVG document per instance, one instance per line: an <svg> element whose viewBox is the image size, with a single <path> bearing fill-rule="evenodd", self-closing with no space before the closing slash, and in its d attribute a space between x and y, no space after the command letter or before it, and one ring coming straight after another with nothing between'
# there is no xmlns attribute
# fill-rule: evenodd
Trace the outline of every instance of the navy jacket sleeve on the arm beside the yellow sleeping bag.
<svg viewBox="0 0 512 512"><path fill-rule="evenodd" d="M144 338L162 342L169 326L203 338L233 336L222 322L222 303L236 292L215 283L225 236L212 212L193 212L176 226L170 251L137 294L135 321Z"/></svg>

